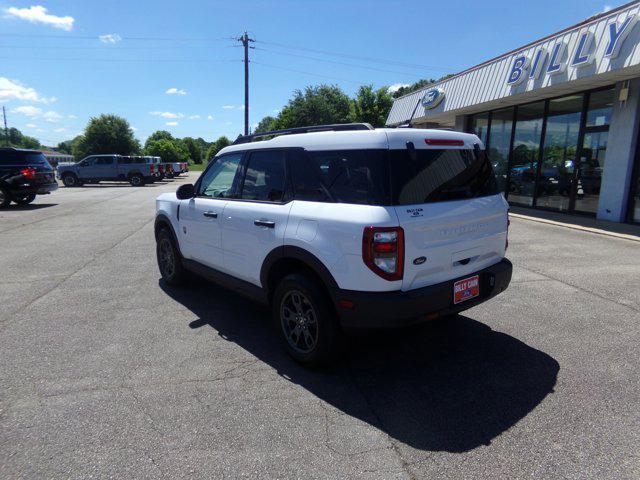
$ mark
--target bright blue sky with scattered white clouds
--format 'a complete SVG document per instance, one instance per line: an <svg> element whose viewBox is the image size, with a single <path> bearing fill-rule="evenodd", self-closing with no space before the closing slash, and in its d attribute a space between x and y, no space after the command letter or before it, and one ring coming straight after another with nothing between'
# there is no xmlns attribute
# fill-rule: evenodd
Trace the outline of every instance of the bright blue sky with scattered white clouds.
<svg viewBox="0 0 640 480"><path fill-rule="evenodd" d="M257 40L255 124L307 85L353 94L438 78L623 3L0 0L0 103L10 126L46 145L100 113L125 117L142 141L158 129L235 138L244 84L233 38L244 30Z"/></svg>

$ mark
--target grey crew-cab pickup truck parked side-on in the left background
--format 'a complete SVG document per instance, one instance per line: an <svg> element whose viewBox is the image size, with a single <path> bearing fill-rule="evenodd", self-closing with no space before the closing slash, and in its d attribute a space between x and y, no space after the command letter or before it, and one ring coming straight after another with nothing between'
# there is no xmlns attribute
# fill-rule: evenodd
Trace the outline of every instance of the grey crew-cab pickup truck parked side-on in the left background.
<svg viewBox="0 0 640 480"><path fill-rule="evenodd" d="M121 155L91 155L78 163L58 165L58 178L66 187L102 180L129 182L134 187L155 180L156 166L146 163L144 157Z"/></svg>

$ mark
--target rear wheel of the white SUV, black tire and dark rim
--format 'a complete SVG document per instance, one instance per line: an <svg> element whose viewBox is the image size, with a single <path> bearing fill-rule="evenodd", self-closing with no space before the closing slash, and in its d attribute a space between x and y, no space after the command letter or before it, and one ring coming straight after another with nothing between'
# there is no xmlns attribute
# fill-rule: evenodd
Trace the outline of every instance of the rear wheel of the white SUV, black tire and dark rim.
<svg viewBox="0 0 640 480"><path fill-rule="evenodd" d="M301 274L282 279L273 295L272 311L282 344L297 362L317 367L338 357L342 332L330 300L313 280Z"/></svg>

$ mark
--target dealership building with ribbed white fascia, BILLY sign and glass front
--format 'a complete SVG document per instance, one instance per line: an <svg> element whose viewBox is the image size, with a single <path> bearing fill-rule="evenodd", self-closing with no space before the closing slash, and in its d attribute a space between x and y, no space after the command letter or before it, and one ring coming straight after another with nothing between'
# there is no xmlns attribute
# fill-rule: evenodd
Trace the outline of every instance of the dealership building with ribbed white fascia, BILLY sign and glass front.
<svg viewBox="0 0 640 480"><path fill-rule="evenodd" d="M640 223L640 2L395 100L387 125L473 132L509 203Z"/></svg>

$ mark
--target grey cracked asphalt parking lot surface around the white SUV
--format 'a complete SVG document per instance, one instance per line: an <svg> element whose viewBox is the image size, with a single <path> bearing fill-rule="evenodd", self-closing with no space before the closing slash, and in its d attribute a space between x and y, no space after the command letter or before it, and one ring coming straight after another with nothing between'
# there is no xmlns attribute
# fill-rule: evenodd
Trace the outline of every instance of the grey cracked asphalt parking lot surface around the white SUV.
<svg viewBox="0 0 640 480"><path fill-rule="evenodd" d="M0 212L0 476L640 476L640 243L513 219L503 295L310 371L159 282L155 197L196 176Z"/></svg>

